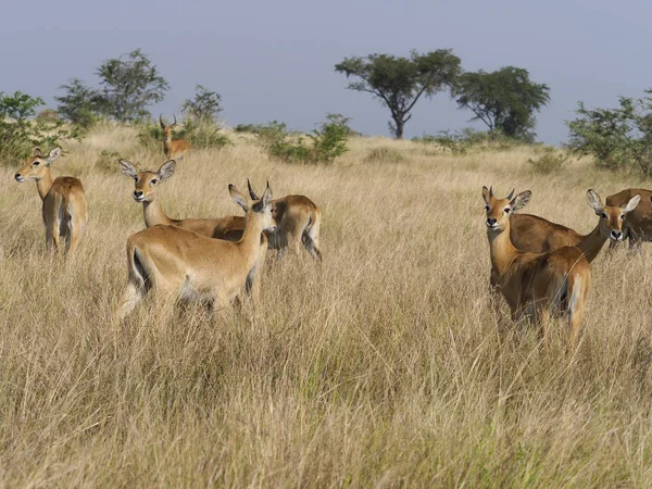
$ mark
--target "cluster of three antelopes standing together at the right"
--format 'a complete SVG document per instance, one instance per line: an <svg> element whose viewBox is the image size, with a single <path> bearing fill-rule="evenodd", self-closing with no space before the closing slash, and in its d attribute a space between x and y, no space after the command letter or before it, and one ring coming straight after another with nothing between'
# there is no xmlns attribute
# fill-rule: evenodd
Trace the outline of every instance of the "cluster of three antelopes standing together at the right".
<svg viewBox="0 0 652 489"><path fill-rule="evenodd" d="M607 240L614 246L628 239L630 249L652 240L652 191L626 189L602 203L594 190L588 190L598 224L586 236L542 217L517 214L530 197L527 190L499 199L491 188L482 187L491 290L504 297L513 321L531 318L544 347L550 315L567 314L568 350L574 352L591 283L590 263Z"/></svg>

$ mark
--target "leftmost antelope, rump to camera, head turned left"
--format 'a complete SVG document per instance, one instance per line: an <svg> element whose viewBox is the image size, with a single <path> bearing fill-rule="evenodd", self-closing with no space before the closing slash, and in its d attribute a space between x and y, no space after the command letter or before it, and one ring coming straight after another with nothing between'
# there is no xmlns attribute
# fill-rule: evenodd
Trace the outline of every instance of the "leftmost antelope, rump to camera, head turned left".
<svg viewBox="0 0 652 489"><path fill-rule="evenodd" d="M60 238L64 238L66 251L72 254L77 249L88 222L88 205L79 179L58 177L52 181L50 166L60 155L61 148L50 151L47 159L39 148L35 148L25 166L15 174L15 179L20 183L36 180L38 195L43 202L42 216L48 250L57 251Z"/></svg>

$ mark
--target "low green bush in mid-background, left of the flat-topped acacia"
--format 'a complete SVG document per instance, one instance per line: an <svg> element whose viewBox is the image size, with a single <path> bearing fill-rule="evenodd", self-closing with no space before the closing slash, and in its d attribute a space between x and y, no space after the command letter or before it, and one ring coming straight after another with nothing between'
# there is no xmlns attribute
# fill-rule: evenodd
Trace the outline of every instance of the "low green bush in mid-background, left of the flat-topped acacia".
<svg viewBox="0 0 652 489"><path fill-rule="evenodd" d="M330 164L348 151L348 127L340 122L326 122L308 136L292 133L286 124L277 121L253 129L267 154L287 163ZM306 137L312 145L305 143Z"/></svg>

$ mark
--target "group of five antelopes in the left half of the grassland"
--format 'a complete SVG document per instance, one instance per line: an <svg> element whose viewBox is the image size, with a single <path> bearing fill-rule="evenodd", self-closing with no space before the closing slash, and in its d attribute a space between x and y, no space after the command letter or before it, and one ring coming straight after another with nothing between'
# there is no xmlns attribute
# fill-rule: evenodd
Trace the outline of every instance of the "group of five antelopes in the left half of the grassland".
<svg viewBox="0 0 652 489"><path fill-rule="evenodd" d="M319 209L304 196L273 200L269 184L259 198L247 180L250 199L228 186L231 199L242 208L244 216L168 217L158 198L158 188L174 175L175 159L181 160L190 145L172 139L176 117L171 126L162 118L160 123L167 161L156 172L139 172L127 160L118 162L122 173L134 179L133 197L142 203L146 228L127 239L128 281L115 319L129 314L150 290L162 321L161 315L167 316L177 299L202 301L221 310L241 301L244 292L255 304L267 249L278 250L281 259L288 249L298 253L303 246L312 256L322 260ZM42 200L47 248L57 251L64 240L65 251L72 254L88 222L88 205L78 178L52 179L51 165L60 155L61 148L47 156L36 148L15 179L36 181Z"/></svg>

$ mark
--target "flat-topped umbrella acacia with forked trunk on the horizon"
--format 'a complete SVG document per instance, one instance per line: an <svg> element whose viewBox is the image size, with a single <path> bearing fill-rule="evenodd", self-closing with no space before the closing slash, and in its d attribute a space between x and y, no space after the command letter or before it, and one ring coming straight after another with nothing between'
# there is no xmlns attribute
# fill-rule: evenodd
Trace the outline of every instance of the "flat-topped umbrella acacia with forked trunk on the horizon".
<svg viewBox="0 0 652 489"><path fill-rule="evenodd" d="M417 100L452 87L461 67L460 58L450 49L439 49L426 54L412 51L410 58L391 54L344 58L335 65L335 71L355 78L347 88L372 93L389 109L389 128L397 139L402 139Z"/></svg>

